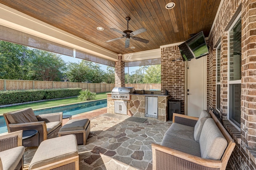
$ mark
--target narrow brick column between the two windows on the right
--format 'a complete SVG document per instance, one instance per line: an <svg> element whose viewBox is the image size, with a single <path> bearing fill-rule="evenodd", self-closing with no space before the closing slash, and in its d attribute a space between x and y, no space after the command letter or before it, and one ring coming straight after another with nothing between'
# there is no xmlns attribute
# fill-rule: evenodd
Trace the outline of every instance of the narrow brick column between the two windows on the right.
<svg viewBox="0 0 256 170"><path fill-rule="evenodd" d="M220 49L220 114L227 119L228 114L228 32L221 35Z"/></svg>

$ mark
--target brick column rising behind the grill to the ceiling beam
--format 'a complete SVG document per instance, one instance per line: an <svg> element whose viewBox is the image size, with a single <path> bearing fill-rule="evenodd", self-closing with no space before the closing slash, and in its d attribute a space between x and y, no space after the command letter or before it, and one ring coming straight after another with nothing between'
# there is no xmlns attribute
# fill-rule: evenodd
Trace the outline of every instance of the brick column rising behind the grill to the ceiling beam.
<svg viewBox="0 0 256 170"><path fill-rule="evenodd" d="M124 87L124 61L122 54L118 54L118 61L116 61L115 65L115 85L116 87Z"/></svg>

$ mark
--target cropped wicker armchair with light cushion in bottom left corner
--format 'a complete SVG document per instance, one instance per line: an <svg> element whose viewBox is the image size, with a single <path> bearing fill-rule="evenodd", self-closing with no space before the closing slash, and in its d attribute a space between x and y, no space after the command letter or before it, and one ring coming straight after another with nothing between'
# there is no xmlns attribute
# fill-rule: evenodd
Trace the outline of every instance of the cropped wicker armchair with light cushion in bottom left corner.
<svg viewBox="0 0 256 170"><path fill-rule="evenodd" d="M22 130L0 136L0 170L22 170Z"/></svg>

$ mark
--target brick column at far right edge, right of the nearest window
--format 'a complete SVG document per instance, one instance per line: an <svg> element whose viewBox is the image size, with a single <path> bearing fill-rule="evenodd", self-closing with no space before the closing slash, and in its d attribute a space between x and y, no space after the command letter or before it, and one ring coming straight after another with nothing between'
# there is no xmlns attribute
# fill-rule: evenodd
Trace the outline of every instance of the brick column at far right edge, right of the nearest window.
<svg viewBox="0 0 256 170"><path fill-rule="evenodd" d="M242 4L241 146L256 149L256 3Z"/></svg>

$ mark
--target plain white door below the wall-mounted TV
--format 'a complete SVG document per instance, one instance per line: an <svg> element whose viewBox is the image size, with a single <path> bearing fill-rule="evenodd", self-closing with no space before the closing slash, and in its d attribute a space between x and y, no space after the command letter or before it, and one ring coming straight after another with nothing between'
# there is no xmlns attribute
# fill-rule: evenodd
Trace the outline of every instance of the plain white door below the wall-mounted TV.
<svg viewBox="0 0 256 170"><path fill-rule="evenodd" d="M187 61L186 111L188 116L199 117L206 109L206 60L207 56Z"/></svg>

